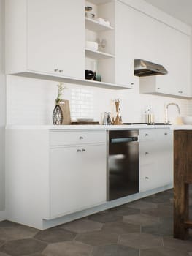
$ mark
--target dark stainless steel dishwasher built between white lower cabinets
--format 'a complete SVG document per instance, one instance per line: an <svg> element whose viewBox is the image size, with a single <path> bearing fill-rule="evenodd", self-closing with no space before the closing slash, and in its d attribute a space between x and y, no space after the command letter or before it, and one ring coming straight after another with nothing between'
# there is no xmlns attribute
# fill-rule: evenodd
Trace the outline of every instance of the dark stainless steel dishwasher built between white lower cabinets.
<svg viewBox="0 0 192 256"><path fill-rule="evenodd" d="M107 200L139 192L138 130L108 132Z"/></svg>

